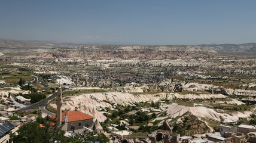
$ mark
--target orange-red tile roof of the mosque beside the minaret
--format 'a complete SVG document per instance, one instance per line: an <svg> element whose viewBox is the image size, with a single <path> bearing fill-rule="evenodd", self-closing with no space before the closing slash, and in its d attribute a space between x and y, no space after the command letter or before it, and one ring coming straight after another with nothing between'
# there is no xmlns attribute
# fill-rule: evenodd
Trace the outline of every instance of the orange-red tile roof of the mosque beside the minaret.
<svg viewBox="0 0 256 143"><path fill-rule="evenodd" d="M64 122L64 116L68 116L68 122L75 122L79 120L87 120L87 119L95 118L88 114L81 113L80 111L67 111L62 113L62 122ZM51 116L50 118L56 120L56 115Z"/></svg>

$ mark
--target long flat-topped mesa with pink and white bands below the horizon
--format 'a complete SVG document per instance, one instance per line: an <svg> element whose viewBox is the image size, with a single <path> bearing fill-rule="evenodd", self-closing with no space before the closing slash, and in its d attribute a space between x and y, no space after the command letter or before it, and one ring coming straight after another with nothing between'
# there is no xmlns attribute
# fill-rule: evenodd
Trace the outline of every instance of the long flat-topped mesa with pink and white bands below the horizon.
<svg viewBox="0 0 256 143"><path fill-rule="evenodd" d="M198 57L217 54L214 50L199 46L75 46L53 48L41 57L86 59L161 59L172 57Z"/></svg>

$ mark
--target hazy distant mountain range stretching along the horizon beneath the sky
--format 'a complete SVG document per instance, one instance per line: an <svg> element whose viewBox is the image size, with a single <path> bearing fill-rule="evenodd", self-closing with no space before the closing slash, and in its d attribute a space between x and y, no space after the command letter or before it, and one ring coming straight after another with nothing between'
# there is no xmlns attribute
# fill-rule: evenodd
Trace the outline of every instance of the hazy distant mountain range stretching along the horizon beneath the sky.
<svg viewBox="0 0 256 143"><path fill-rule="evenodd" d="M72 47L72 48L71 48ZM52 49L53 48L53 49ZM63 49L62 49L63 48ZM149 54L148 51L154 51L154 55L157 55L156 51L160 51L161 56L164 55L163 51L166 51L165 54L170 54L170 52L175 52L176 55L184 55L189 52L201 52L209 54L218 54L221 55L235 55L242 57L256 57L256 43L243 43L243 44L202 44L197 46L159 46L159 45L150 45L150 46L89 46L84 43L71 43L71 42L54 42L54 41L16 41L0 38L0 49L48 49L48 52L45 52L44 55L61 55L63 57L71 56L71 54L66 55L65 52L78 52L78 55L84 55L90 52L103 52L103 53L112 53L116 54L118 52L139 52L140 54ZM132 50L132 51L131 51ZM65 51L65 52L64 52ZM168 52L169 51L169 52ZM216 51L216 52L214 52ZM59 52L59 53L57 53ZM184 53L183 53L184 52ZM163 56L164 57L164 56Z"/></svg>

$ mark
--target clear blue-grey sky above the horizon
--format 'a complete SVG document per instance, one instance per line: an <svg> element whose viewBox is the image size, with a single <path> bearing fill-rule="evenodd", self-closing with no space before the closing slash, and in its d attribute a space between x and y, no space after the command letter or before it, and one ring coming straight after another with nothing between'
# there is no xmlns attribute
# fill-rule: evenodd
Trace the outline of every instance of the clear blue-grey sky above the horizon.
<svg viewBox="0 0 256 143"><path fill-rule="evenodd" d="M256 42L254 0L1 0L0 38L108 45Z"/></svg>

